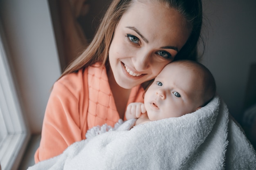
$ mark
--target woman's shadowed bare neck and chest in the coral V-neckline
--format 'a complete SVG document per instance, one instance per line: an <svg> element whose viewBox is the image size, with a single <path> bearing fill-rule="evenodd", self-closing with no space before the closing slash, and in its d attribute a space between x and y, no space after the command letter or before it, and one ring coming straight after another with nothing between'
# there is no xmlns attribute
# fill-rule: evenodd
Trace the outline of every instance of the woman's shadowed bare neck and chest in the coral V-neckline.
<svg viewBox="0 0 256 170"><path fill-rule="evenodd" d="M122 88L117 84L111 68L108 69L107 74L108 74L109 86L115 100L117 112L119 113L120 118L124 119L124 114L126 111L126 106L130 96L131 89Z"/></svg>

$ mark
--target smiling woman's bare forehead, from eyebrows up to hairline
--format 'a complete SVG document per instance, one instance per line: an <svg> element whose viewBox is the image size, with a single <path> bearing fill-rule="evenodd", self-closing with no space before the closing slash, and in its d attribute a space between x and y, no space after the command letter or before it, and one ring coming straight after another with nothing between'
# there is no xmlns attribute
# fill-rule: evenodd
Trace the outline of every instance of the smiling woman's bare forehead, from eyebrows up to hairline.
<svg viewBox="0 0 256 170"><path fill-rule="evenodd" d="M191 32L184 26L186 20L177 10L159 2L150 2L132 3L118 25L135 27L148 41L163 46L177 46L180 50Z"/></svg>

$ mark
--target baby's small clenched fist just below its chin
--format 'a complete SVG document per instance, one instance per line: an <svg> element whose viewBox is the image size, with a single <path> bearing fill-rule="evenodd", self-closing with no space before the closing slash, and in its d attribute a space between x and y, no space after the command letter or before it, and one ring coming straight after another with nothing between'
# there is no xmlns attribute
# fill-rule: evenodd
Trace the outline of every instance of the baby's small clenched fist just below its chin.
<svg viewBox="0 0 256 170"><path fill-rule="evenodd" d="M130 103L126 110L126 119L139 118L141 113L146 113L146 108L143 103Z"/></svg>

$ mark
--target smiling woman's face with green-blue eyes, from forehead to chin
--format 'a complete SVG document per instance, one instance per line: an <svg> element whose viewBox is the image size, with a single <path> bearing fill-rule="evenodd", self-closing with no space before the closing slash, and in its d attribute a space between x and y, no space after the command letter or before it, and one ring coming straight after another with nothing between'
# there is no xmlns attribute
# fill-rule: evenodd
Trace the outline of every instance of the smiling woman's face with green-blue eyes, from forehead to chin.
<svg viewBox="0 0 256 170"><path fill-rule="evenodd" d="M173 61L190 32L175 9L159 2L133 2L117 24L109 49L117 84L132 88L155 78Z"/></svg>

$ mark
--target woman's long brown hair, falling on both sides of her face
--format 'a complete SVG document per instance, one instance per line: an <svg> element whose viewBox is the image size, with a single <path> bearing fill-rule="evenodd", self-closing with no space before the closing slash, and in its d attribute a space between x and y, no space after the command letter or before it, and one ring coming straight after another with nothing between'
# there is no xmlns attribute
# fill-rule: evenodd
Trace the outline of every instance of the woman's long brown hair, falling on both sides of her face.
<svg viewBox="0 0 256 170"><path fill-rule="evenodd" d="M129 9L134 0L113 0L101 20L99 29L89 46L77 57L62 73L61 77L73 73L81 68L86 68L100 62L108 65L108 52L112 42L115 28L122 15ZM186 44L175 56L174 60L197 60L197 42L200 38L202 26L202 2L201 0L158 0L168 4L181 13L192 26L192 32ZM61 78L60 77L60 78Z"/></svg>

